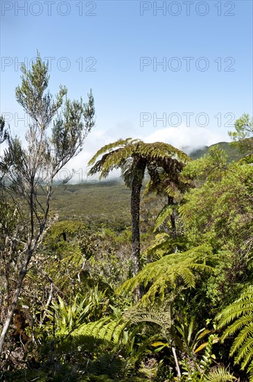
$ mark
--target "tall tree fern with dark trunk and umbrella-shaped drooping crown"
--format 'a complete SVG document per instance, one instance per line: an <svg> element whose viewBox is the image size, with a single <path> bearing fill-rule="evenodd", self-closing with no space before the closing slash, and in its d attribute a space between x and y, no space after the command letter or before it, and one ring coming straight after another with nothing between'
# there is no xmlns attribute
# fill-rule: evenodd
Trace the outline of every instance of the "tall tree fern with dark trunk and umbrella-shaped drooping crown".
<svg viewBox="0 0 253 382"><path fill-rule="evenodd" d="M101 157L102 156L102 157ZM99 157L101 159L97 160ZM132 274L140 271L139 208L141 186L147 169L154 183L159 181L159 171L163 169L169 177L180 172L189 157L179 149L163 142L145 143L141 140L117 140L102 147L89 161L89 174L100 173L100 178L108 176L112 169L121 169L125 185L131 189L132 215Z"/></svg>

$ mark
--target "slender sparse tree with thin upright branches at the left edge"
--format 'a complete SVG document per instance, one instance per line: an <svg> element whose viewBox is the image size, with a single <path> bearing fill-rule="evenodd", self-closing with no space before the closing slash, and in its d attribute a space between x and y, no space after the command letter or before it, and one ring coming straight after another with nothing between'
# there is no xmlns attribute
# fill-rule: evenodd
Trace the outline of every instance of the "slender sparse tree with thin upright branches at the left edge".
<svg viewBox="0 0 253 382"><path fill-rule="evenodd" d="M11 195L15 213L19 211L25 227L22 238L6 238L11 254L18 251L16 267L19 266L19 274L14 290L8 294L12 296L12 301L6 316L1 317L4 324L0 335L0 355L30 260L49 224L53 179L82 150L82 144L94 126L94 98L91 92L87 103L83 103L82 99L70 101L67 99L67 89L60 86L60 92L53 99L47 90L49 67L39 54L31 69L22 65L21 72L21 86L16 88L16 98L30 121L24 146L17 137L3 133L2 120L0 126L1 135L7 139L7 149L0 156L0 179L2 184L5 181L5 190Z"/></svg>

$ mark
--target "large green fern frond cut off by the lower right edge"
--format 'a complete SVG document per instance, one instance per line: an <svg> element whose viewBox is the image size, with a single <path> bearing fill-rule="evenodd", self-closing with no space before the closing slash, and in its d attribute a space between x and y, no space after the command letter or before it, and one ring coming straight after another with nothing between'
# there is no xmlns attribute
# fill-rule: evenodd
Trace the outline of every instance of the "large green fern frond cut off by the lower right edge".
<svg viewBox="0 0 253 382"><path fill-rule="evenodd" d="M235 363L241 364L241 369L248 367L247 371L253 371L253 285L241 294L241 297L223 310L218 319L218 327L227 329L223 333L222 340L235 335L230 356L235 356ZM253 375L250 376L253 381Z"/></svg>

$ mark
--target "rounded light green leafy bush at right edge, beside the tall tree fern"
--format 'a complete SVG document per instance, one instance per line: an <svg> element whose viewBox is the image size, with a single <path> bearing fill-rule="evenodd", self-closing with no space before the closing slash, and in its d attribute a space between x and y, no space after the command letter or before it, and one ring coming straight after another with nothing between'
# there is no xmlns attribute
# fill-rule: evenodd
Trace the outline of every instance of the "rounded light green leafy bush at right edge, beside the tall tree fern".
<svg viewBox="0 0 253 382"><path fill-rule="evenodd" d="M228 238L241 238L248 229L252 210L251 165L230 166L219 181L206 181L185 196L180 214L191 242L215 241L220 246ZM240 229L239 229L240 227Z"/></svg>

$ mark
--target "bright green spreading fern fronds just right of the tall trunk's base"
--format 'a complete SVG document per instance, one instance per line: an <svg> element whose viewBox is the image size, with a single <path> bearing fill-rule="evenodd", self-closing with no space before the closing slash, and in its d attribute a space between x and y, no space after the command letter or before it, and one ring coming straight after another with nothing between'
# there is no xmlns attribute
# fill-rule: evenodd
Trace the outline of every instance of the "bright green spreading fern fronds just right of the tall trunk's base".
<svg viewBox="0 0 253 382"><path fill-rule="evenodd" d="M130 292L143 284L144 287L150 286L148 292L143 296L143 301L155 300L155 295L160 294L164 298L167 288L175 288L180 285L183 288L195 287L195 273L211 272L212 268L206 264L211 255L211 247L202 245L186 251L182 254L170 254L163 258L146 265L132 279L125 281L118 289L118 293Z"/></svg>

